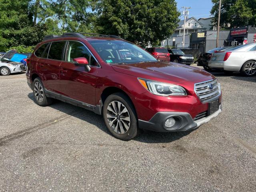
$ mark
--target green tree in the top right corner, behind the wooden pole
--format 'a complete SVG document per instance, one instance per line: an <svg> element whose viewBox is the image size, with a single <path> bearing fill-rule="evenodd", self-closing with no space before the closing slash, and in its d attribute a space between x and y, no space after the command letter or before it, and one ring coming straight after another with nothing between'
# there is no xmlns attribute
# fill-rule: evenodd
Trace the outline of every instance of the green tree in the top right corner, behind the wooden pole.
<svg viewBox="0 0 256 192"><path fill-rule="evenodd" d="M212 0L213 26L217 26L219 0ZM254 26L256 22L256 0L222 0L220 12L221 28Z"/></svg>

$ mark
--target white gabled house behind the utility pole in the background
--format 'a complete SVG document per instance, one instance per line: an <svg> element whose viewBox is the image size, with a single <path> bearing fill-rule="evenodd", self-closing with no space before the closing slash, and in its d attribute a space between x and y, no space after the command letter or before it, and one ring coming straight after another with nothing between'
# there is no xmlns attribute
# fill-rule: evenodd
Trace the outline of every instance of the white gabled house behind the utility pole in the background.
<svg viewBox="0 0 256 192"><path fill-rule="evenodd" d="M202 22L201 22L202 21ZM201 32L210 29L212 18L200 18L194 17L187 18L185 23L185 48L190 46L190 34L194 32ZM161 42L161 46L175 46L176 48L183 47L183 32L184 32L184 20L181 20L178 28L174 30L174 34Z"/></svg>

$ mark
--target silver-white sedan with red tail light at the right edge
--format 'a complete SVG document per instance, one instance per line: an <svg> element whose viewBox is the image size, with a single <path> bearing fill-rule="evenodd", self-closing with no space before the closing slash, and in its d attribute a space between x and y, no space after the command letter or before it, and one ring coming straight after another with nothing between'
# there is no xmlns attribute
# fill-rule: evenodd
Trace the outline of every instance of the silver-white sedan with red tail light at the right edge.
<svg viewBox="0 0 256 192"><path fill-rule="evenodd" d="M256 43L238 45L212 54L210 69L222 69L226 73L240 72L244 76L254 76Z"/></svg>

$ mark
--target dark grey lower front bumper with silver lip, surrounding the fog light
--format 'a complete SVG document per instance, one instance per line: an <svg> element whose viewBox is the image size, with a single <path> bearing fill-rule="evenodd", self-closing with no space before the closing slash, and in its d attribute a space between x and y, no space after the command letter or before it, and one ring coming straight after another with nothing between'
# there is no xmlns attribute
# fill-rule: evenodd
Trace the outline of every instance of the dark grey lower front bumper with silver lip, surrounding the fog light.
<svg viewBox="0 0 256 192"><path fill-rule="evenodd" d="M199 126L216 118L222 112L222 105L220 104L219 110L214 114L193 120L189 113L186 112L158 112L149 121L139 120L139 128L156 131L156 132L180 132L188 131L198 128ZM165 121L173 117L176 123L171 129L164 126Z"/></svg>

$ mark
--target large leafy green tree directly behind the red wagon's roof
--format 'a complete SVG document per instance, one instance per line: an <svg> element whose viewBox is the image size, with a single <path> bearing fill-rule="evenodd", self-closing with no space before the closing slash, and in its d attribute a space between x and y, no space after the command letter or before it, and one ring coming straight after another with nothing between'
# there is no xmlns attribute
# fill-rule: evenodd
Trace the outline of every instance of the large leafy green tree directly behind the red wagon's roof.
<svg viewBox="0 0 256 192"><path fill-rule="evenodd" d="M170 36L179 21L175 0L101 0L96 30L142 46Z"/></svg>

